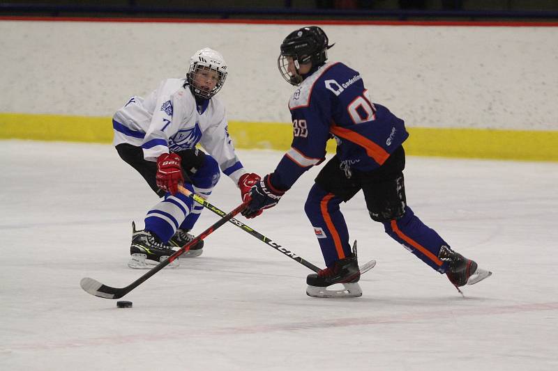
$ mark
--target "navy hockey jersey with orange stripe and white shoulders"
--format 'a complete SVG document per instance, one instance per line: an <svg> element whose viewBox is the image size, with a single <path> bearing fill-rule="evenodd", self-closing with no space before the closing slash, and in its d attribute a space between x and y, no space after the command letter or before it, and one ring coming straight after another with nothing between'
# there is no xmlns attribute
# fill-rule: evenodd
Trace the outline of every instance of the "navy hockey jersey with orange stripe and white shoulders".
<svg viewBox="0 0 558 371"><path fill-rule="evenodd" d="M378 168L409 136L405 123L372 103L359 72L343 63L326 63L289 100L293 123L291 149L273 172L273 186L289 189L310 167L324 161L333 135L345 166Z"/></svg>

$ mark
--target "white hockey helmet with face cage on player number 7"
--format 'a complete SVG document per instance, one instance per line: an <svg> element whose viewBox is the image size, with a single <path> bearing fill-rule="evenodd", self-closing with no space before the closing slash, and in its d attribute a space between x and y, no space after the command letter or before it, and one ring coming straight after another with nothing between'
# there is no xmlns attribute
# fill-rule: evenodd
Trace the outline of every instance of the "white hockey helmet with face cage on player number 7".
<svg viewBox="0 0 558 371"><path fill-rule="evenodd" d="M213 70L217 72L218 81L212 90L195 86L194 77L199 70ZM209 99L213 97L213 95L216 95L217 92L223 88L223 84L225 84L225 79L227 79L227 62L225 62L225 58L216 50L210 49L209 47L199 49L190 58L190 69L186 74L186 79L193 95L203 99Z"/></svg>

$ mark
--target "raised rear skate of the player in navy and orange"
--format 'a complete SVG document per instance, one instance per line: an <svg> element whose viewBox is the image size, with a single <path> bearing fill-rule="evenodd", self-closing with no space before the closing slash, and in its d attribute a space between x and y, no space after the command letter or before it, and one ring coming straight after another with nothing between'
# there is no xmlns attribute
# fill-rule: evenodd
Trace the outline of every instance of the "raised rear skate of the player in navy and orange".
<svg viewBox="0 0 558 371"><path fill-rule="evenodd" d="M438 257L440 260L448 262L446 276L448 276L449 281L455 287L474 285L492 274L491 271L478 268L474 260L465 258L463 255L448 248L448 246L440 248Z"/></svg>

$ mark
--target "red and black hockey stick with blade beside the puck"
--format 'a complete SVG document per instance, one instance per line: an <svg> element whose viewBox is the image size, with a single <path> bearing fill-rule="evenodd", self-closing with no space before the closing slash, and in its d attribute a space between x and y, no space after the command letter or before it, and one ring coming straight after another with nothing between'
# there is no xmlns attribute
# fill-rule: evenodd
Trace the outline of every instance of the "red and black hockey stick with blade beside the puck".
<svg viewBox="0 0 558 371"><path fill-rule="evenodd" d="M107 285L103 285L103 283L100 283L99 281L96 281L93 278L89 278L89 277L82 278L82 281L80 281L80 286L82 287L83 290L96 297L101 297L105 299L120 299L124 295L128 294L128 292L134 290L137 286L144 283L144 281L146 281L147 278L153 276L153 274L156 274L161 269L167 267L167 265L173 262L180 255L190 250L190 246L197 244L199 241L201 241L208 235L211 235L211 233L213 233L217 228L223 226L223 224L225 224L227 221L232 219L232 217L235 216L236 214L239 214L239 212L241 212L244 209L244 207L246 207L246 203L242 203L241 205L236 207L236 209L232 210L232 212L229 212L229 214L223 213L224 214L223 217L218 221L216 221L216 223L214 223L213 226L204 230L202 234L195 237L192 241L188 242L188 244L182 246L179 250L177 250L175 253L170 255L169 258L167 258L163 262L160 262L155 267L149 269L149 271L146 274L144 274L140 278L137 278L137 280L135 280L133 283L130 283L130 285L126 287L110 287Z"/></svg>

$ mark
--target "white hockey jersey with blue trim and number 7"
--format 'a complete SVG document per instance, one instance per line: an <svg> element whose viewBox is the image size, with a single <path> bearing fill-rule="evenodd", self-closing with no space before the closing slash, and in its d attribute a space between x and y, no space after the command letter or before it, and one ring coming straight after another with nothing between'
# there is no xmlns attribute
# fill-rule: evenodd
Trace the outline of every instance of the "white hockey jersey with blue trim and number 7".
<svg viewBox="0 0 558 371"><path fill-rule="evenodd" d="M234 184L246 173L229 137L225 106L215 97L198 106L186 79L167 79L145 99L131 97L114 113L114 145L142 147L144 158L195 148L199 143Z"/></svg>

